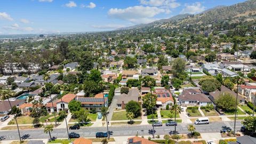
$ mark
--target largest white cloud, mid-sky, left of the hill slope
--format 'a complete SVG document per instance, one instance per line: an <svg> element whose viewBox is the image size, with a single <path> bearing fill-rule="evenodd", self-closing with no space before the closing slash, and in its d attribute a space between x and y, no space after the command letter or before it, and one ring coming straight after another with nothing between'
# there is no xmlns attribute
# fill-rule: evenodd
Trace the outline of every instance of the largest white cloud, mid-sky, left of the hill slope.
<svg viewBox="0 0 256 144"><path fill-rule="evenodd" d="M111 18L127 20L132 23L149 23L155 21L153 18L159 13L169 12L165 9L149 6L130 6L126 9L110 9L108 15Z"/></svg>

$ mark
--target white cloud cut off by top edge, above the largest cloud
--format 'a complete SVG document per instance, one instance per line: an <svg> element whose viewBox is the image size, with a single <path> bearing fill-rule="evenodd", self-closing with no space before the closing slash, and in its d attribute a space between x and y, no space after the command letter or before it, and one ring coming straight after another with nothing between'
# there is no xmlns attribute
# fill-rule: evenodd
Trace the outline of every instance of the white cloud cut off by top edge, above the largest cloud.
<svg viewBox="0 0 256 144"><path fill-rule="evenodd" d="M175 0L140 0L140 3L143 5L166 7L169 9L174 9L180 6L180 3L177 3Z"/></svg>

